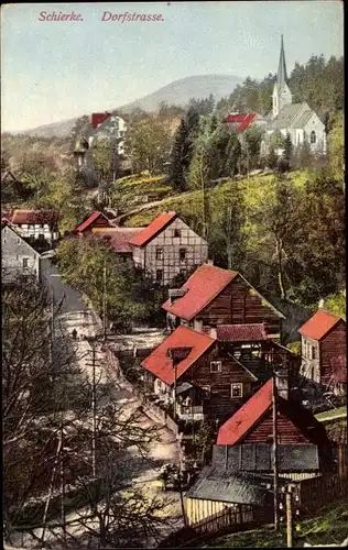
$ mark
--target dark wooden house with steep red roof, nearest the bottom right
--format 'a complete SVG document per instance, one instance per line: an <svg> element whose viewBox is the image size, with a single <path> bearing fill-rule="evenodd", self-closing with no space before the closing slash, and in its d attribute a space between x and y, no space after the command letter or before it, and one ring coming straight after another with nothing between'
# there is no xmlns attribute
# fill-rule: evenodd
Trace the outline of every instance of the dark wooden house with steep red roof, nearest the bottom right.
<svg viewBox="0 0 348 550"><path fill-rule="evenodd" d="M280 472L292 479L305 479L331 469L330 444L324 426L291 398L279 374L276 385ZM227 462L230 460L238 471L271 473L273 438L273 381L270 380L219 428L217 447L224 447ZM231 451L228 459L232 447L237 451Z"/></svg>

